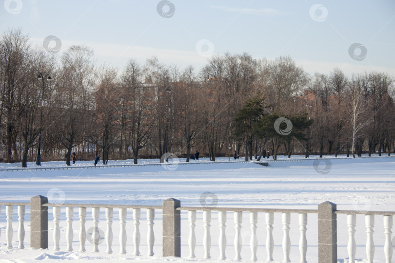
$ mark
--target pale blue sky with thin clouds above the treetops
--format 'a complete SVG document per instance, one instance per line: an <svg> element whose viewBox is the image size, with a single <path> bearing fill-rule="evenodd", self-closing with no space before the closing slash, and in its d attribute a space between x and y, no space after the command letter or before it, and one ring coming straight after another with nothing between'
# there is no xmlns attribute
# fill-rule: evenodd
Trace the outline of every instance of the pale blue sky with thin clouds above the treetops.
<svg viewBox="0 0 395 263"><path fill-rule="evenodd" d="M199 69L215 54L247 52L254 58L291 56L310 74L339 67L348 75L395 75L394 0L3 2L1 32L20 27L40 48L44 38L56 36L57 56L84 44L94 49L98 64L120 70L130 58L144 63L156 55L168 65ZM354 43L362 45L351 53L359 59L349 54Z"/></svg>

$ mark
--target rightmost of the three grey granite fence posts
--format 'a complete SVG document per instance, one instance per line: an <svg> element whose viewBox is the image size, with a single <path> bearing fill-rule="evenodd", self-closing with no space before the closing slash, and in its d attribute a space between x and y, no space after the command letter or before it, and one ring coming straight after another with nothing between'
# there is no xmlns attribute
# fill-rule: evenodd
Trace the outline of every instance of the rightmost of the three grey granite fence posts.
<svg viewBox="0 0 395 263"><path fill-rule="evenodd" d="M336 204L318 205L318 263L337 263Z"/></svg>

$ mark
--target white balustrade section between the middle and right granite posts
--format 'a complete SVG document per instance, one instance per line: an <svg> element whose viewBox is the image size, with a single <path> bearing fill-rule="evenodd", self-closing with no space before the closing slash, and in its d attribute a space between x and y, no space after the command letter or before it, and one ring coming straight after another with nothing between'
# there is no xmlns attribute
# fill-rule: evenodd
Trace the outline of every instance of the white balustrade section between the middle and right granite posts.
<svg viewBox="0 0 395 263"><path fill-rule="evenodd" d="M267 251L267 262L274 261L274 239L273 239L273 224L274 224L274 212L273 209L248 209L248 208L202 208L202 207L179 207L179 210L188 210L188 227L189 227L189 238L188 238L188 247L189 247L189 258L196 257L196 244L202 244L203 246L203 255L200 255L200 258L209 259L211 258L211 241L213 238L218 240L218 249L219 249L219 257L214 258L213 260L226 260L229 259L226 254L229 254L229 246L228 243L233 243L235 258L231 258L236 261L246 260L245 257L241 254L242 246L248 245L251 250L251 261L256 262L258 260L257 257L257 249L258 249L258 238L257 231L261 234L264 231L257 227L258 221L262 221L266 226L266 251ZM203 210L202 210L203 209ZM197 218L197 211L202 210L202 217ZM281 224L283 230L283 261L282 262L291 262L290 261L290 216L291 211L295 210L287 210L287 209L279 209L276 210L281 215ZM307 225L307 213L316 213L317 210L305 210L306 213L296 213L298 216L298 224L299 224L299 233L300 233L300 241L299 241L299 251L300 251L300 263L307 263L306 261L306 253L307 253L307 238L306 238L306 225ZM229 220L227 218L228 213L233 213L233 217ZM250 234L248 235L249 240L243 239L242 237L242 221L243 215L249 215L249 225L247 227L250 228ZM218 229L213 229L212 227L212 216L217 215ZM203 236L201 240L197 240L197 234L195 233L195 228L197 224L203 225ZM234 225L235 231L234 234L230 235L226 231L226 224ZM218 236L213 237L213 233L218 233ZM230 240L230 242L228 241ZM233 241L233 242L232 242ZM247 243L247 244L243 244ZM227 250L228 248L228 250ZM231 251L232 253L233 251ZM264 259L259 259L263 261ZM276 260L280 260L277 255Z"/></svg>

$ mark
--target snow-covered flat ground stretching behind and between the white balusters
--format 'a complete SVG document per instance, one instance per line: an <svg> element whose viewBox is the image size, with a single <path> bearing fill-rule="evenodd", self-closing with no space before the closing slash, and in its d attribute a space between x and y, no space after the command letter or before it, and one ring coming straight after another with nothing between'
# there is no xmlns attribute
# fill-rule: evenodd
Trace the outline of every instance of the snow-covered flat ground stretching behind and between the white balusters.
<svg viewBox="0 0 395 263"><path fill-rule="evenodd" d="M130 205L161 205L162 201L173 197L181 200L181 206L201 206L201 201L207 205L218 207L266 207L266 208L301 208L316 209L324 201L337 204L337 209L353 210L384 210L395 211L395 158L347 158L325 160L310 156L293 156L301 159L294 162L272 162L269 167L263 167L252 162L243 163L210 163L207 158L202 158L199 165L177 165L174 160L164 166L136 166L107 169L64 169L64 170L25 170L25 171L0 171L0 202L29 202L30 198L41 194L47 196L51 203L89 203L89 204L130 204ZM344 156L339 156L344 157ZM285 156L278 158L287 159ZM266 161L267 159L265 159ZM272 160L272 159L270 159ZM217 161L229 161L229 158L219 158ZM185 162L185 160L178 160ZM192 161L197 163L197 161ZM132 164L133 160L109 161L111 164ZM139 164L159 163L159 160L139 160ZM93 162L77 161L73 166L92 166ZM28 168L35 167L29 163ZM65 167L64 162L42 163L42 167ZM0 164L0 169L20 168L20 164ZM203 200L202 194L211 192L213 195ZM214 200L212 198L214 197ZM214 203L213 203L214 202ZM28 207L27 207L28 208ZM51 209L50 209L51 210ZM92 225L90 209L87 211L87 229ZM113 254L105 253L105 242L99 245L99 253L80 253L78 241L78 209L74 211L74 241L73 252L52 250L53 217L49 212L49 247L47 250L35 250L25 245L24 250L13 248L5 249L5 206L0 212L0 263L2 262L55 262L59 260L72 260L72 262L136 262L156 261L198 261L203 257L202 245L202 215L197 213L197 259L187 259L188 256L188 221L187 213L181 214L181 255L183 259L161 257L161 215L155 215L155 247L154 257L133 256L133 219L131 209L127 215L127 254L120 255L118 232L118 210L114 210L114 242ZM233 248L234 222L233 214L227 213L227 249L226 256L233 261L235 252ZM264 213L258 213L258 261L266 260L265 249L266 229ZM14 208L14 239L13 246L18 246L18 218ZM375 262L384 262L384 229L383 217L375 216ZM65 209L61 210L61 239L60 248L66 249L65 240ZM308 216L308 262L317 262L317 216ZM99 228L105 231L104 208L100 210ZM218 217L213 212L211 222L212 248L211 256L217 261L218 252ZM249 262L251 252L249 239L249 215L243 213L241 256L243 261ZM275 261L283 259L281 214L275 213ZM30 242L30 217L26 209L25 216L26 237L25 244ZM357 216L356 226L356 258L367 262L365 254L364 217ZM142 255L147 253L145 211L141 211L141 244ZM338 258L339 262L348 262L347 242L348 232L346 215L338 215ZM297 214L291 215L291 261L299 261L298 251L299 230ZM93 246L87 244L87 251L92 251ZM394 261L395 262L395 261Z"/></svg>

